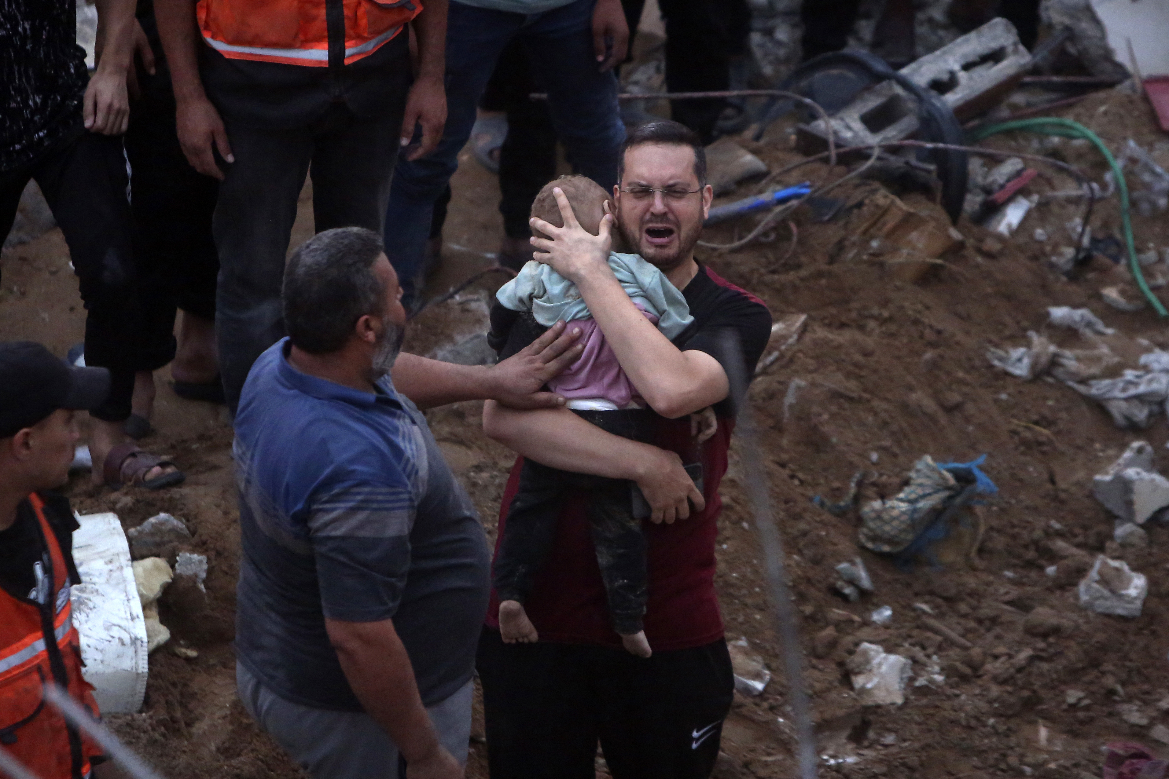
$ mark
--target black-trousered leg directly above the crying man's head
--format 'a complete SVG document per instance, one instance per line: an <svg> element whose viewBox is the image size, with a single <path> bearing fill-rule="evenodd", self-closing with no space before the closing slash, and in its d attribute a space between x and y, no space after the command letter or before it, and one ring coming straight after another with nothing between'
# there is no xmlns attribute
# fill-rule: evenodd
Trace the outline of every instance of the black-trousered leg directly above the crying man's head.
<svg viewBox="0 0 1169 779"><path fill-rule="evenodd" d="M728 0L659 0L665 19L665 81L671 92L725 90L731 84L731 30ZM727 102L672 100L670 113L698 133L704 144L714 140L714 125Z"/></svg>

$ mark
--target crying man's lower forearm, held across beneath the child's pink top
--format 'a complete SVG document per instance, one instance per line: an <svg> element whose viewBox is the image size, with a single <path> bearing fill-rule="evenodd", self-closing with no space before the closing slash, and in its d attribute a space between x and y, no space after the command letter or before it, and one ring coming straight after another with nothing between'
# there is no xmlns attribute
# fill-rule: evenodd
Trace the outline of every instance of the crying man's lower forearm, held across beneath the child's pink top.
<svg viewBox="0 0 1169 779"><path fill-rule="evenodd" d="M483 430L548 467L607 479L638 481L663 454L656 446L606 432L567 409L517 411L487 401Z"/></svg>

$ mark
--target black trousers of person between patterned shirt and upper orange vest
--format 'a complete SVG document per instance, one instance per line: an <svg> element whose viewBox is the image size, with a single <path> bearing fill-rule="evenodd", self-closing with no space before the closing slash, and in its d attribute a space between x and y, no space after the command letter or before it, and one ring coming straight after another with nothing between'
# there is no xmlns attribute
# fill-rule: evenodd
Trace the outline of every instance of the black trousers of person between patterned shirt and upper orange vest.
<svg viewBox="0 0 1169 779"><path fill-rule="evenodd" d="M141 96L130 105L126 158L130 204L140 239L136 255L143 335L148 348L173 349L174 315L181 308L215 319L219 256L212 215L219 182L198 173L179 146L171 74L157 37L154 75L138 68Z"/></svg>

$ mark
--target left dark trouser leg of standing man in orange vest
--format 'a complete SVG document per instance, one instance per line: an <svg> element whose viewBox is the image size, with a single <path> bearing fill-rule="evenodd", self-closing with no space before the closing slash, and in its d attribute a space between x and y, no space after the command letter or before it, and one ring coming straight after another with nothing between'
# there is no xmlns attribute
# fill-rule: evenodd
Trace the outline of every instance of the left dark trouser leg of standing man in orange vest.
<svg viewBox="0 0 1169 779"><path fill-rule="evenodd" d="M305 128L260 130L223 117L235 162L212 222L220 273L215 295L223 392L231 413L251 363L284 336L281 284L297 199L312 159Z"/></svg>

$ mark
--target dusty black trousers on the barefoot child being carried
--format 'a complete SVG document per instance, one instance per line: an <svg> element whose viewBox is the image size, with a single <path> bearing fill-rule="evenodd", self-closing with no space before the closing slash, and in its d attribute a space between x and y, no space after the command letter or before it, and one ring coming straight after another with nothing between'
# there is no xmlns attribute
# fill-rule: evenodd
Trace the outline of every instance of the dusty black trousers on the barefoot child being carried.
<svg viewBox="0 0 1169 779"><path fill-rule="evenodd" d="M652 439L653 418L648 411L576 411L576 415L622 438ZM492 565L492 583L499 599L527 600L535 575L555 541L566 493L577 489L587 495L584 510L613 630L621 635L639 632L648 598L645 535L642 521L634 517L630 485L625 479L572 473L525 459Z"/></svg>

